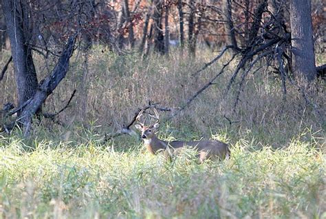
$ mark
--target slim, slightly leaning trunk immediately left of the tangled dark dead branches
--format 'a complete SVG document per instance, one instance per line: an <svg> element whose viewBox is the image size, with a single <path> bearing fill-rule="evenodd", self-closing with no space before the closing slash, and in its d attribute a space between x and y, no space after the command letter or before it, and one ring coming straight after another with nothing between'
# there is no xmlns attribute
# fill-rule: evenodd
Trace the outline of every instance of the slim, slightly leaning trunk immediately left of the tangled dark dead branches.
<svg viewBox="0 0 326 219"><path fill-rule="evenodd" d="M235 38L235 26L232 20L232 3L231 0L224 0L224 14L226 17L226 32L228 34L229 44L233 46L233 50L237 50L238 43Z"/></svg>

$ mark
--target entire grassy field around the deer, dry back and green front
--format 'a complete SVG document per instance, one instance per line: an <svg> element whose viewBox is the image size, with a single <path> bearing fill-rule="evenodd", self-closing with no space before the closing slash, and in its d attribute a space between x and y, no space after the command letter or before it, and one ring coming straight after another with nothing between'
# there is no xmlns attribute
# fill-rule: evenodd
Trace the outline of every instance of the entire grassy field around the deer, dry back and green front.
<svg viewBox="0 0 326 219"><path fill-rule="evenodd" d="M141 59L101 50L94 48L86 62L76 54L47 99L44 110L58 111L77 90L58 117L63 125L34 123L25 140L19 129L0 134L0 218L326 218L325 82L307 92L313 105L290 83L283 101L279 78L260 68L234 109L238 81L225 96L232 63L159 132L162 139L223 140L230 160L199 165L195 152L185 150L167 162L147 153L137 136L108 142L103 136L148 101L180 107L221 63L191 77L213 54ZM53 63L36 60L41 79ZM0 90L1 105L14 102L12 69ZM161 113L163 121L167 116Z"/></svg>

